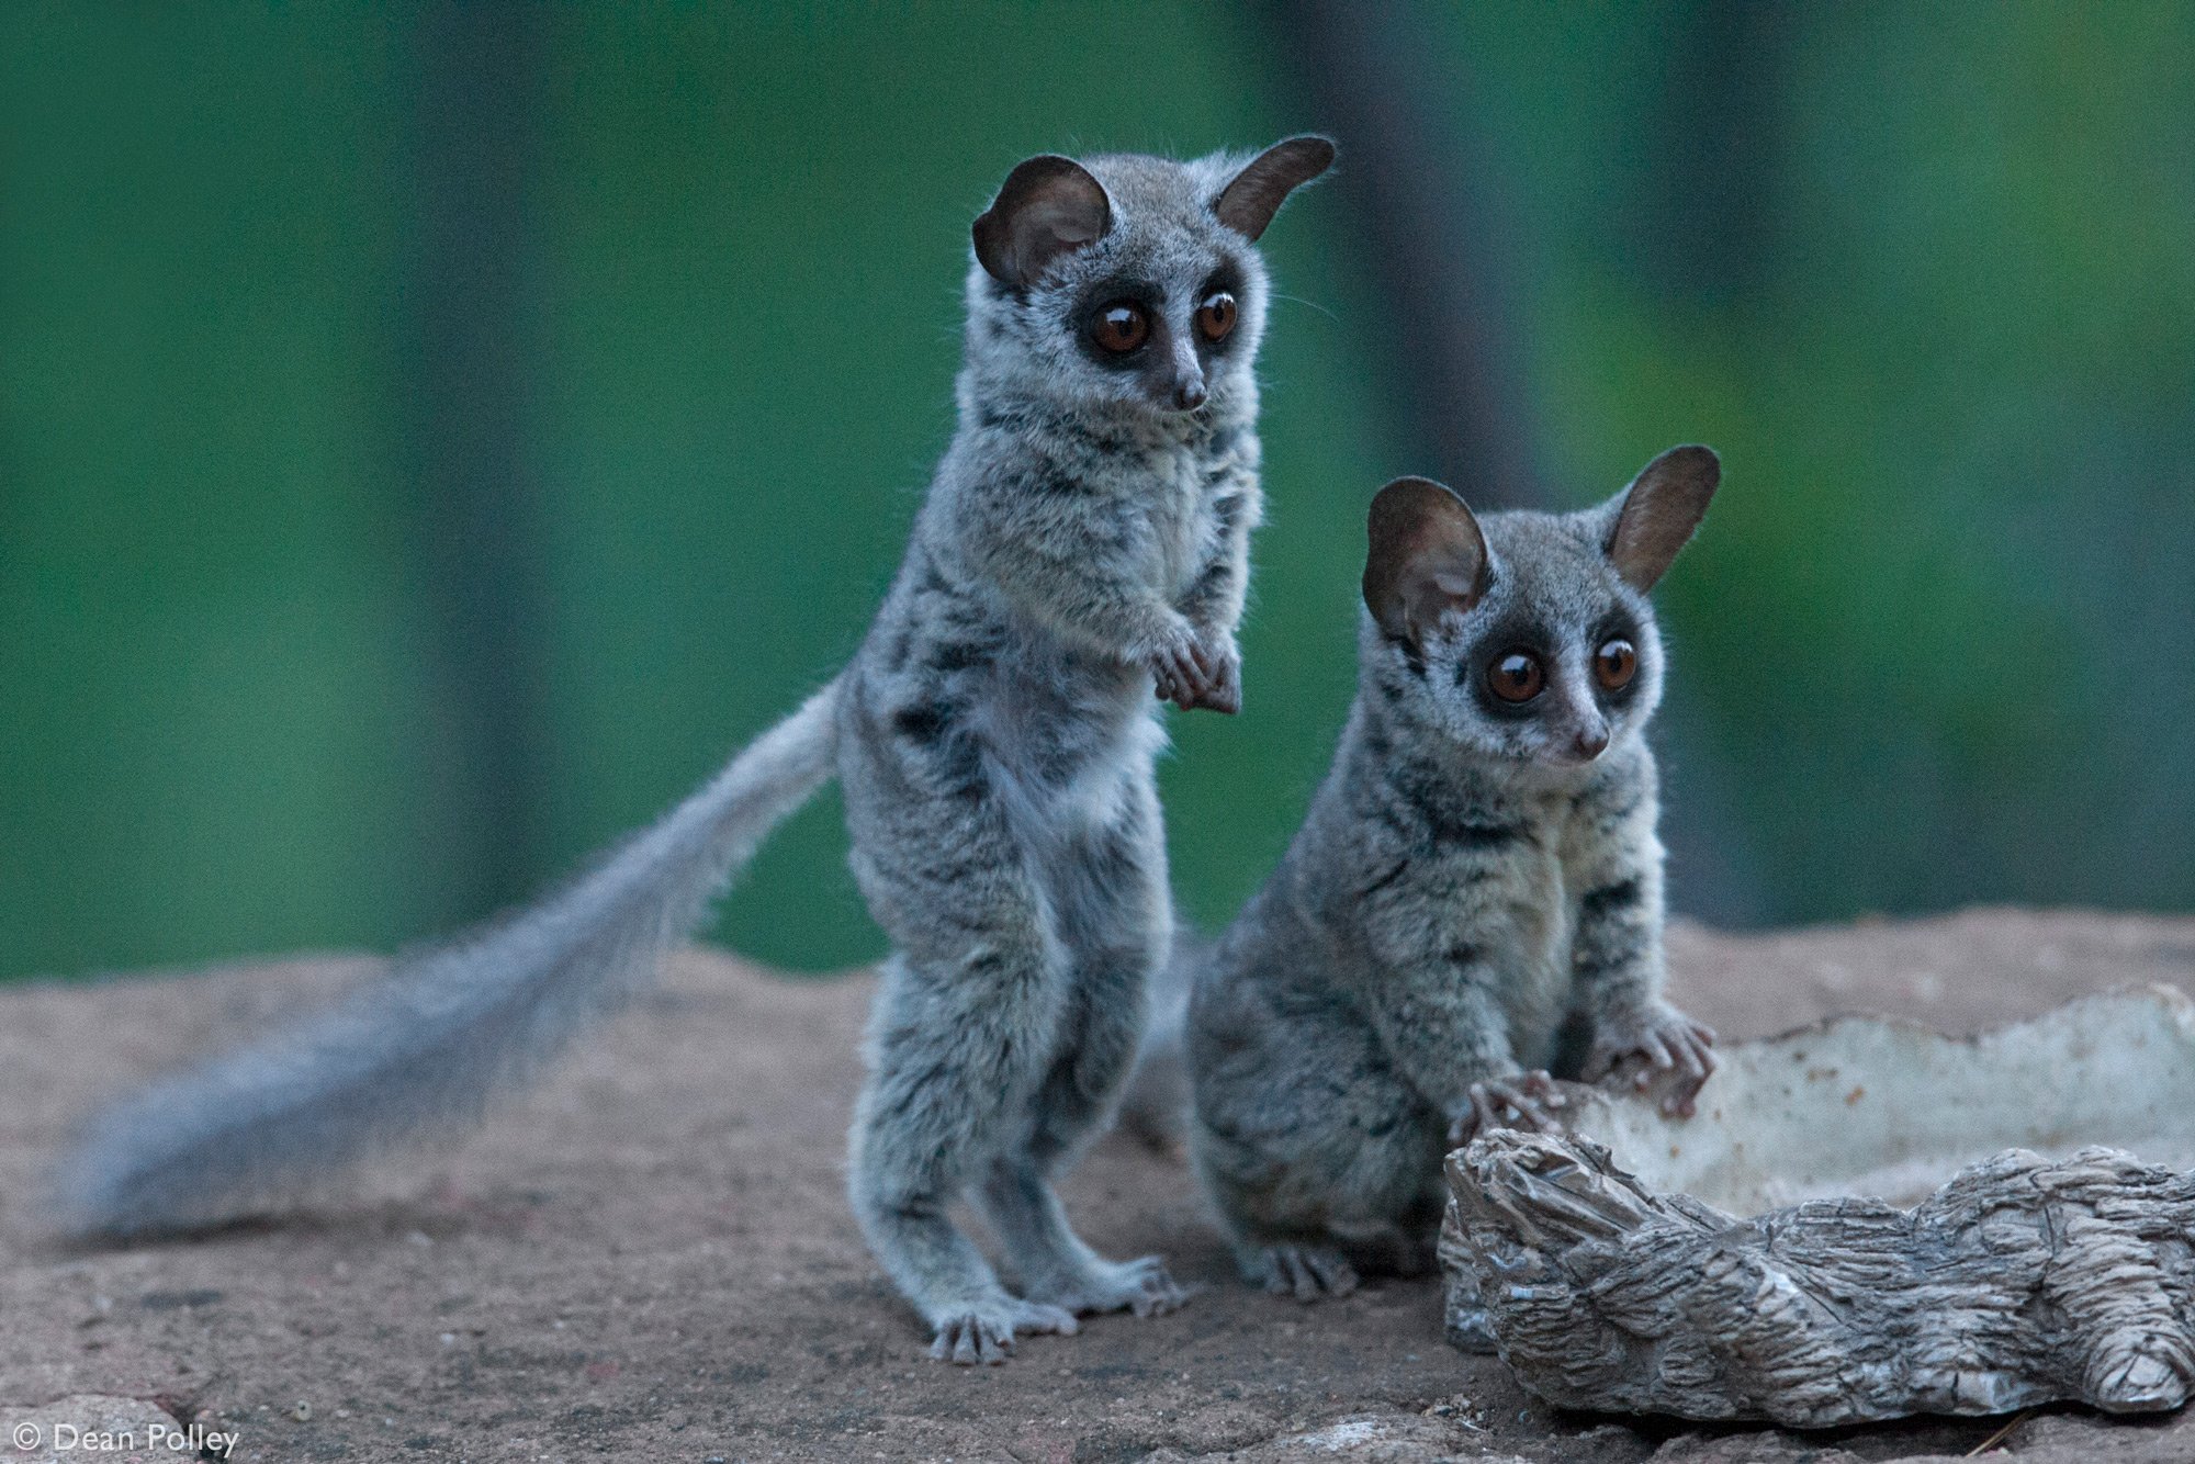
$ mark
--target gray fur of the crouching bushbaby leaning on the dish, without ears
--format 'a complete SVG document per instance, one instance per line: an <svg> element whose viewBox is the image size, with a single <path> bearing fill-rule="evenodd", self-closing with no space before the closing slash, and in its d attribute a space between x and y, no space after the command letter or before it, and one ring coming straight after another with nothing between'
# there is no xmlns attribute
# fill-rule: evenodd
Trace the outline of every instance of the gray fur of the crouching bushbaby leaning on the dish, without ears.
<svg viewBox="0 0 2195 1464"><path fill-rule="evenodd" d="M1620 507L1486 516L1490 588L1422 645L1363 615L1335 766L1196 964L1190 1146L1253 1282L1310 1299L1354 1284L1367 1240L1422 1258L1475 1082L1576 1076L1675 1021L1644 740L1662 645L1605 553ZM1637 645L1624 696L1589 674L1609 628ZM1534 716L1482 685L1519 639L1552 652ZM1596 718L1609 746L1580 764Z"/></svg>

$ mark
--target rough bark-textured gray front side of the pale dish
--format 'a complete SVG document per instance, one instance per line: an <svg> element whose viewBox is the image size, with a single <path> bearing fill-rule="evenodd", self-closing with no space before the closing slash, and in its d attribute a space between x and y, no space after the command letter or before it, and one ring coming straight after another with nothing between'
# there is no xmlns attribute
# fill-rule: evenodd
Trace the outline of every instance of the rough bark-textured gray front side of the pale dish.
<svg viewBox="0 0 2195 1464"><path fill-rule="evenodd" d="M1578 1409L1824 1427L2079 1398L2180 1407L2195 1381L2195 1174L2006 1150L1914 1209L1738 1220L1651 1194L1598 1144L1493 1133L1449 1157L1451 1330Z"/></svg>

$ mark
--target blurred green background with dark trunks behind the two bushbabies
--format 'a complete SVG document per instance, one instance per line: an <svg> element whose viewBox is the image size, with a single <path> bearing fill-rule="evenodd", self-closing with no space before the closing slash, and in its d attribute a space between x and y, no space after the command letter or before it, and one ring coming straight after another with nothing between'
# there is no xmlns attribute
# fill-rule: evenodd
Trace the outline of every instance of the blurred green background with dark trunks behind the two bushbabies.
<svg viewBox="0 0 2195 1464"><path fill-rule="evenodd" d="M0 9L0 977L389 948L650 819L852 652L1032 151L1330 129L1267 235L1220 922L1400 472L1664 593L1679 909L2195 909L2195 7ZM878 950L836 803L727 902Z"/></svg>

